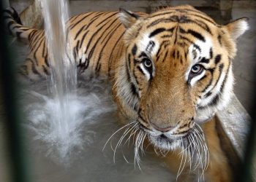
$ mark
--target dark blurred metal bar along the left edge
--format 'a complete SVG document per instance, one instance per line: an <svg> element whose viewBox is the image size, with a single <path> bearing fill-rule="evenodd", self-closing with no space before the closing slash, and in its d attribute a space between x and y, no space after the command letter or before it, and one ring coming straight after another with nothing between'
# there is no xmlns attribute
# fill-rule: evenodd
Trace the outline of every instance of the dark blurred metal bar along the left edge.
<svg viewBox="0 0 256 182"><path fill-rule="evenodd" d="M0 3L0 9L3 4ZM4 25L4 18L0 12L0 25ZM7 145L11 162L11 178L12 181L29 181L26 171L26 155L23 151L20 132L20 112L18 110L17 84L15 84L15 71L10 50L7 47L7 35L4 28L0 28L0 76L1 91L4 102L4 124L7 129Z"/></svg>

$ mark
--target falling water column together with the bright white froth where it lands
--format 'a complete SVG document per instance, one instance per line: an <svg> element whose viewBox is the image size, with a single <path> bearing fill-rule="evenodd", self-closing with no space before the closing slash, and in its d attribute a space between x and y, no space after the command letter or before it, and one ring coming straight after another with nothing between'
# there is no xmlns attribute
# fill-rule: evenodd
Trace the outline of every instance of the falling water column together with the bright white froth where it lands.
<svg viewBox="0 0 256 182"><path fill-rule="evenodd" d="M78 100L76 66L67 56L70 44L67 39L67 1L44 0L42 12L50 63L50 98L34 92L41 99L40 103L44 103L42 108L45 110L34 111L31 121L35 124L47 123L46 131L41 131L45 137L39 135L39 138L56 146L60 157L65 158L69 149L80 146L80 138L75 130L83 122L80 114L83 112L84 100ZM40 107L36 105L33 108Z"/></svg>

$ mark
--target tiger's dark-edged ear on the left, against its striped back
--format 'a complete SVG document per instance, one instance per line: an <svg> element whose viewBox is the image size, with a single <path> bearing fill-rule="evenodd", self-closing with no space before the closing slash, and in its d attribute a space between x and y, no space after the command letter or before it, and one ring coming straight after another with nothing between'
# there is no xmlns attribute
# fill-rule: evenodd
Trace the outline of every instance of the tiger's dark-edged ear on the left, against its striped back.
<svg viewBox="0 0 256 182"><path fill-rule="evenodd" d="M126 9L119 8L119 20L125 26L130 28L140 16L134 12L127 11Z"/></svg>

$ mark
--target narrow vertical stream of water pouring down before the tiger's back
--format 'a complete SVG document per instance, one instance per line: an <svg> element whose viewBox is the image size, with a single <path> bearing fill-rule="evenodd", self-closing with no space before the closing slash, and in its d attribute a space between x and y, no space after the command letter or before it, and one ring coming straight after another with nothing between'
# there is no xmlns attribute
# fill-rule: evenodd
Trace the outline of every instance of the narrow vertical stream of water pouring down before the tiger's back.
<svg viewBox="0 0 256 182"><path fill-rule="evenodd" d="M55 129L57 146L61 148L61 157L64 157L72 140L70 123L77 120L78 110L72 106L73 100L77 100L77 74L75 63L69 60L67 39L67 20L69 9L67 0L42 1L43 17L45 18L45 37L48 47L50 63L50 79L48 88L53 96L49 106L52 108L52 124ZM78 103L79 105L79 103Z"/></svg>

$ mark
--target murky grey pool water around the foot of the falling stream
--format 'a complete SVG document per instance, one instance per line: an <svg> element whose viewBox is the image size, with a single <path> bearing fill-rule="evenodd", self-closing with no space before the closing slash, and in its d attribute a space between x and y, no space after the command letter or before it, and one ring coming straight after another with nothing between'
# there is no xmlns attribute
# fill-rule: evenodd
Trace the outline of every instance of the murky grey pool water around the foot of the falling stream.
<svg viewBox="0 0 256 182"><path fill-rule="evenodd" d="M76 123L69 124L73 145L64 158L60 156L61 147L54 143L58 142L59 134L50 125L53 121L45 120L46 110L53 104L51 98L45 98L47 84L33 84L20 95L26 106L27 116L22 125L32 181L176 181L176 176L151 151L141 156L141 170L138 165L135 167L132 143L118 147L113 162L113 149L124 130L102 150L110 135L123 126L118 122L108 82L78 79L77 92L82 105L70 104L83 111Z"/></svg>

